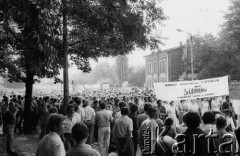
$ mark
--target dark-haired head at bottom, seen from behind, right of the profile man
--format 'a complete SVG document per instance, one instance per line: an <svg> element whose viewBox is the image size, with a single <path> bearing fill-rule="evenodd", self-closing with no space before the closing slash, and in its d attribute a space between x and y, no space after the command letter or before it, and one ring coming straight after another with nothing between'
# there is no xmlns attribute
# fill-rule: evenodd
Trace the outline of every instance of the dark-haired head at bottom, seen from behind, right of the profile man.
<svg viewBox="0 0 240 156"><path fill-rule="evenodd" d="M85 143L89 136L89 130L84 123L77 123L72 128L72 136L77 143L79 142Z"/></svg>

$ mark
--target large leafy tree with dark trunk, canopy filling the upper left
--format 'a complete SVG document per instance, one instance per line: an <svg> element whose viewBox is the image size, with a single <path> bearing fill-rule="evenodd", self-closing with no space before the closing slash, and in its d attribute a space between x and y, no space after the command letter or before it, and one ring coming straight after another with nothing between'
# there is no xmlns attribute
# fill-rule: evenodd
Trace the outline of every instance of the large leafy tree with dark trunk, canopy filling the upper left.
<svg viewBox="0 0 240 156"><path fill-rule="evenodd" d="M151 32L164 20L155 0L1 0L1 52L11 52L10 61L0 60L1 68L9 69L11 80L26 83L25 132L31 126L33 83L45 76L57 78L68 57L65 52L88 72L90 58L158 48L161 36Z"/></svg>

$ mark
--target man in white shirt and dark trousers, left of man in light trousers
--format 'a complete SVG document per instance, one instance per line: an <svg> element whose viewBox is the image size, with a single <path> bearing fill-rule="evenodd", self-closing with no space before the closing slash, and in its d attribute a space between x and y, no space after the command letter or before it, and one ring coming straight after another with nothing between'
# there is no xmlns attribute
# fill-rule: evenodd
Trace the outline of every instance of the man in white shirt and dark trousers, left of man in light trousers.
<svg viewBox="0 0 240 156"><path fill-rule="evenodd" d="M95 111L92 107L89 106L89 101L86 100L83 103L84 111L85 111L85 124L89 130L89 137L87 140L87 144L93 145L93 132L94 132L94 124L95 124Z"/></svg>

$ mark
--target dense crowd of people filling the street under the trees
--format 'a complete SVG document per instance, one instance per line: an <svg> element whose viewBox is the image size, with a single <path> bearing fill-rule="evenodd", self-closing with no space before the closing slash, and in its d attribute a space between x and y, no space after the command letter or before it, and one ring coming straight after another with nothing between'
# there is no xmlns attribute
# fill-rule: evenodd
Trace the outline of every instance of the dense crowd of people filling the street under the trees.
<svg viewBox="0 0 240 156"><path fill-rule="evenodd" d="M7 137L7 152L12 155L17 155L12 147L14 133L23 133L24 101L21 95L4 95L1 102L0 125ZM40 128L37 156L107 156L112 152L136 156L138 149L143 155L173 154L170 149L178 141L177 134L190 138L186 143L190 151L192 134L235 132L234 147L240 141L237 114L229 96L167 102L157 99L151 90L133 88L72 96L66 114L62 106L61 96L32 98L32 130ZM222 142L215 139L214 146ZM94 144L98 150L92 148ZM209 155L207 149L203 139L198 152Z"/></svg>

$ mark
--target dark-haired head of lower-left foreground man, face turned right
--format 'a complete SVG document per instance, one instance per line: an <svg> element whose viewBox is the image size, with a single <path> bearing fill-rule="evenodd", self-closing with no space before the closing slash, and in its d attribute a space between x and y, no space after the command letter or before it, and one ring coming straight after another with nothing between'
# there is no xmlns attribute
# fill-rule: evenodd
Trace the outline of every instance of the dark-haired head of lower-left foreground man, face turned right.
<svg viewBox="0 0 240 156"><path fill-rule="evenodd" d="M49 130L62 134L65 128L64 119L65 117L61 114L52 114L48 121Z"/></svg>

